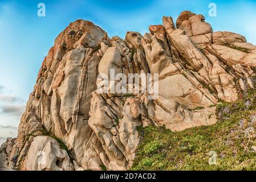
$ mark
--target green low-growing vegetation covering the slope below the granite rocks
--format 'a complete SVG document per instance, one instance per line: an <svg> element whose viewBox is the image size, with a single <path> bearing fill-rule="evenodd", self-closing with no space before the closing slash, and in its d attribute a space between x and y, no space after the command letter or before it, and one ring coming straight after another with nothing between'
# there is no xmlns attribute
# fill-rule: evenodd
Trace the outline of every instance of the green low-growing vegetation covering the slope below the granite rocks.
<svg viewBox="0 0 256 182"><path fill-rule="evenodd" d="M132 170L255 170L256 92L217 105L218 123L181 132L139 127L141 142ZM210 165L217 153L217 164Z"/></svg>

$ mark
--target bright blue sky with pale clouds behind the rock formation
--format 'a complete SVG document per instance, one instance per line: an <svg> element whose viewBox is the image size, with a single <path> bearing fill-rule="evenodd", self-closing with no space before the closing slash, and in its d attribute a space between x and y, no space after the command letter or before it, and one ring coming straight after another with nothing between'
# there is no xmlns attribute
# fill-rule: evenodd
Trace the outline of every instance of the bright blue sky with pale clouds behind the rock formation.
<svg viewBox="0 0 256 182"><path fill-rule="evenodd" d="M46 5L46 17L37 16L41 2ZM212 2L217 5L216 17L208 16ZM42 60L70 22L91 20L109 36L124 38L127 31L144 34L149 25L162 24L164 15L176 20L184 10L205 15L214 31L237 32L256 44L255 0L0 0L0 143L17 134Z"/></svg>

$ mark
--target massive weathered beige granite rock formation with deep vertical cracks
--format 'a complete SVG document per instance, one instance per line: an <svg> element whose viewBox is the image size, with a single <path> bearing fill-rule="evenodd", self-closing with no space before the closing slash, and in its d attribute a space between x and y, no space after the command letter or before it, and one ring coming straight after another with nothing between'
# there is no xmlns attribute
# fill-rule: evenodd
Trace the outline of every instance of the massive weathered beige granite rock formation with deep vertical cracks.
<svg viewBox="0 0 256 182"><path fill-rule="evenodd" d="M17 139L1 147L6 166L127 170L139 144L138 126L181 131L216 123L218 100L235 101L253 88L256 48L241 35L213 32L204 16L190 11L176 25L164 16L151 33L127 32L123 40L85 20L71 23L43 60ZM158 73L159 96L95 92L97 75L110 69L127 76ZM42 154L46 163L38 162Z"/></svg>

